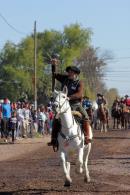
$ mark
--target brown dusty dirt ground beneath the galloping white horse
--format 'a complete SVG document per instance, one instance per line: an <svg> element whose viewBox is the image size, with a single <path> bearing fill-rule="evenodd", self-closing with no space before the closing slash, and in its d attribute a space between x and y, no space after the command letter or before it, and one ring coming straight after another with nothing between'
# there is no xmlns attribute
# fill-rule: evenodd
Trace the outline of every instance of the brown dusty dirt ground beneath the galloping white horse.
<svg viewBox="0 0 130 195"><path fill-rule="evenodd" d="M130 195L130 130L94 131L89 159L91 182L75 171L73 185L63 186L58 154L49 137L0 144L0 194Z"/></svg>

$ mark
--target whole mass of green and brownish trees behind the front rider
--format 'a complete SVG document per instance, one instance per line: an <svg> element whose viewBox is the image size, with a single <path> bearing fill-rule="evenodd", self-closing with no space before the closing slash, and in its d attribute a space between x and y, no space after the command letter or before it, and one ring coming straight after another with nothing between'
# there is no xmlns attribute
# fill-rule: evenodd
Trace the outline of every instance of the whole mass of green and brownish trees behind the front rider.
<svg viewBox="0 0 130 195"><path fill-rule="evenodd" d="M80 66L85 81L85 93L94 97L95 87L102 88L103 59L91 47L92 31L79 24L65 26L63 32L45 30L37 33L37 90L38 99L50 96L51 72L46 74L53 53L60 55L58 70L68 65ZM0 98L19 99L24 92L34 96L34 35L25 37L19 45L7 42L0 52ZM98 90L98 89L97 89Z"/></svg>

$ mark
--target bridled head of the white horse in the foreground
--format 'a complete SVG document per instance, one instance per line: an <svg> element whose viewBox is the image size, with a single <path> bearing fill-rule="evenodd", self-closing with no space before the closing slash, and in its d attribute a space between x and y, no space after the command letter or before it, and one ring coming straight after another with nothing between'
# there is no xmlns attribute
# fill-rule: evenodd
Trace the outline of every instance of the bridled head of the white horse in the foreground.
<svg viewBox="0 0 130 195"><path fill-rule="evenodd" d="M66 112L70 107L69 101L67 98L67 93L68 93L68 90L66 87L64 87L63 91L55 90L53 92L53 97L54 97L53 110L57 114Z"/></svg>

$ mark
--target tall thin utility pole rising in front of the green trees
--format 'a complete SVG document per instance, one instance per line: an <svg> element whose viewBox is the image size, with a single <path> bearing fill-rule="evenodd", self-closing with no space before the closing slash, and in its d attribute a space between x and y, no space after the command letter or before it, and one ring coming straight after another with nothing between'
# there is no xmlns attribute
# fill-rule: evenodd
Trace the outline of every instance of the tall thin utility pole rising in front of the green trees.
<svg viewBox="0 0 130 195"><path fill-rule="evenodd" d="M36 21L34 22L34 108L37 110L37 35Z"/></svg>

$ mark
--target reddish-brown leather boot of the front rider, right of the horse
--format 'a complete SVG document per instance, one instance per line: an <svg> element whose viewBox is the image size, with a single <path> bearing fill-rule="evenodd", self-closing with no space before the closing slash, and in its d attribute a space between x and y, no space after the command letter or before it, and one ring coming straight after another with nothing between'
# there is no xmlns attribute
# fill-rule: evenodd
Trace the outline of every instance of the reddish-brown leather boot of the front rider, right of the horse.
<svg viewBox="0 0 130 195"><path fill-rule="evenodd" d="M90 139L90 124L88 120L83 121L83 131L84 131L84 137L85 137L85 144L88 144Z"/></svg>

